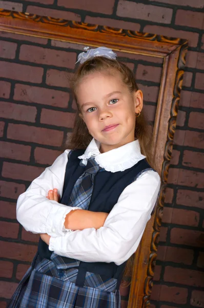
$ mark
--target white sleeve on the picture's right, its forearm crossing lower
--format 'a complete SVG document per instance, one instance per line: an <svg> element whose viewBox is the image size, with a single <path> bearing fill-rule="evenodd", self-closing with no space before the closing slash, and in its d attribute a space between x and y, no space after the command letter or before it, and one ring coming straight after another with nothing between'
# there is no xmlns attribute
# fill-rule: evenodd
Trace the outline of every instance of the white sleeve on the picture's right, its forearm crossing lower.
<svg viewBox="0 0 204 308"><path fill-rule="evenodd" d="M49 249L85 262L125 262L139 245L159 189L158 173L144 172L121 193L103 227L51 237Z"/></svg>

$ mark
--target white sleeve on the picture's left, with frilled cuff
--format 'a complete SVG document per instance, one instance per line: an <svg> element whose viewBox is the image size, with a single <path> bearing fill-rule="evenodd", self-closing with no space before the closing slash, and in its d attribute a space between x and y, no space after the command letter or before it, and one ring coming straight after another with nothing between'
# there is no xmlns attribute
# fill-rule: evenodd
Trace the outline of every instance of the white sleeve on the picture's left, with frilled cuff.
<svg viewBox="0 0 204 308"><path fill-rule="evenodd" d="M16 217L27 231L47 233L52 237L64 236L69 231L63 228L65 217L70 210L78 207L67 206L46 198L48 191L53 188L57 188L62 197L68 153L69 150L65 150L59 155L52 166L47 167L18 197Z"/></svg>

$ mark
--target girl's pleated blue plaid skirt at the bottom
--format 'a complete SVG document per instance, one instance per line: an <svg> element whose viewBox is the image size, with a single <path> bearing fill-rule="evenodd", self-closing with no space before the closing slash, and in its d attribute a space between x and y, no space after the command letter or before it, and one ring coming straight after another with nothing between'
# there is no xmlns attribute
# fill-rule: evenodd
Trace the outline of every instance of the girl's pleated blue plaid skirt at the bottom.
<svg viewBox="0 0 204 308"><path fill-rule="evenodd" d="M84 286L77 286L78 264L65 264L54 253L51 260L37 254L7 308L120 308L117 279L87 272Z"/></svg>

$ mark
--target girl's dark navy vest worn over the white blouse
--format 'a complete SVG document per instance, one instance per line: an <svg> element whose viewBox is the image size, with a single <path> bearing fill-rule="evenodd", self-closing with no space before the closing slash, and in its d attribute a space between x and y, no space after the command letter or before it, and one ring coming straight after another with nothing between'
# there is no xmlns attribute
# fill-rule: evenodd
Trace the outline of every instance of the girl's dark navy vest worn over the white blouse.
<svg viewBox="0 0 204 308"><path fill-rule="evenodd" d="M76 180L83 174L84 166L80 166L78 156L83 155L85 150L73 150L71 155L69 153L68 163L65 171L65 181L63 188L63 195L60 203L67 205L69 196L72 192ZM146 159L140 160L131 168L124 171L110 172L101 171L95 175L93 192L89 204L91 211L103 211L110 213L113 206L123 192L123 190L131 184L136 178L146 170L154 170ZM155 171L155 170L154 170ZM153 213L153 212L152 212ZM52 252L49 251L48 245L39 239L38 253L42 258L50 259ZM75 259L62 257L65 263L72 263ZM127 262L127 261L126 261ZM126 266L126 262L116 265L114 262L83 262L78 266L78 276L76 284L84 286L86 272L91 272L99 275L105 275L107 278L116 278L117 289L119 288L121 278Z"/></svg>

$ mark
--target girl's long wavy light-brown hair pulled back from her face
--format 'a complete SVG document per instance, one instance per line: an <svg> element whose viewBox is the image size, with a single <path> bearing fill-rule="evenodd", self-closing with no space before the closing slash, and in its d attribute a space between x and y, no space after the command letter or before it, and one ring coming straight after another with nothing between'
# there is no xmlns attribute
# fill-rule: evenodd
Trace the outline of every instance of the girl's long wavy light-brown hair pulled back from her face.
<svg viewBox="0 0 204 308"><path fill-rule="evenodd" d="M124 63L121 63L117 60L111 60L103 56L97 56L91 60L87 60L85 63L79 65L71 78L69 77L70 87L73 93L73 97L76 101L77 110L73 132L71 136L67 137L67 140L65 141L65 148L86 149L93 138L89 134L85 122L79 116L80 106L77 102L77 86L85 76L91 73L103 71L106 73L111 73L113 70L120 73L123 82L128 86L131 93L138 90L133 72ZM135 118L135 138L139 141L141 153L146 156L148 163L156 170L157 166L154 160L155 153L152 152L152 131L152 126L146 120L144 110L142 109L139 117ZM134 254L127 260L123 274L123 279L126 277L124 280L127 280L127 278L131 276L133 263Z"/></svg>

